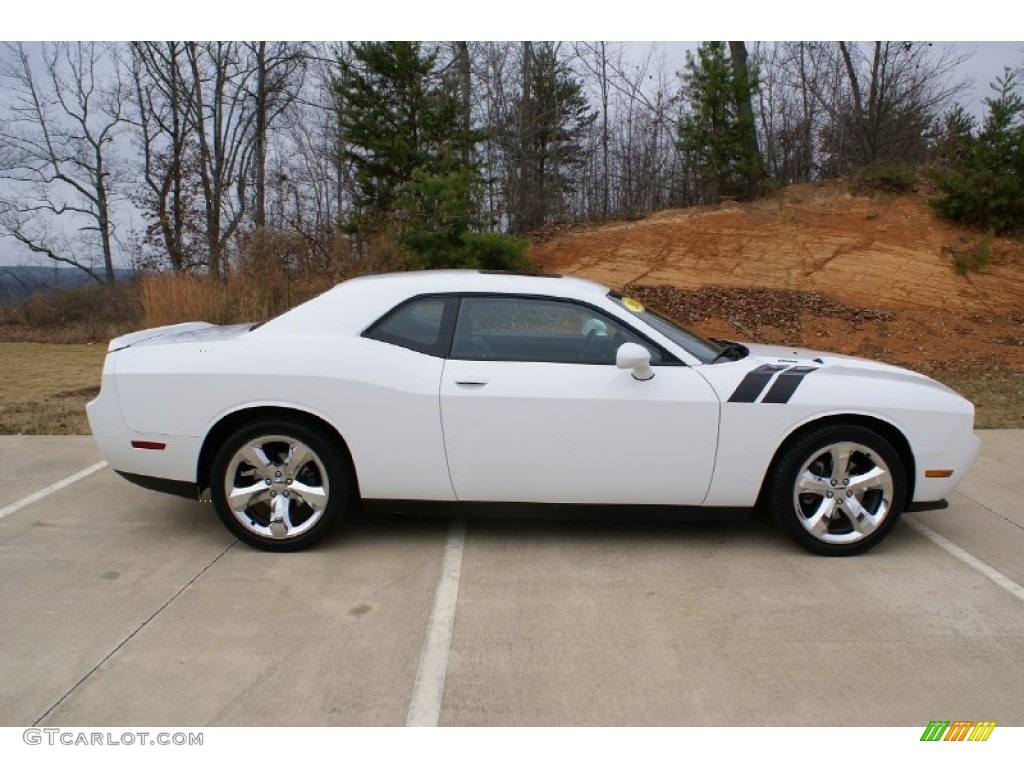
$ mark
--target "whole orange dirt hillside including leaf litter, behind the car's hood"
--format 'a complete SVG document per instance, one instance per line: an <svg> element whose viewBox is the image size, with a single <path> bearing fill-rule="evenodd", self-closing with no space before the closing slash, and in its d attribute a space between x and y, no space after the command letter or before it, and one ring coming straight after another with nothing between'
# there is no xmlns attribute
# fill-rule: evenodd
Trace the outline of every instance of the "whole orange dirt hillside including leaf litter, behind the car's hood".
<svg viewBox="0 0 1024 768"><path fill-rule="evenodd" d="M709 336L858 354L928 373L1024 427L1024 241L998 238L962 275L979 232L921 195L798 184L754 203L552 229L530 256L646 302Z"/></svg>

